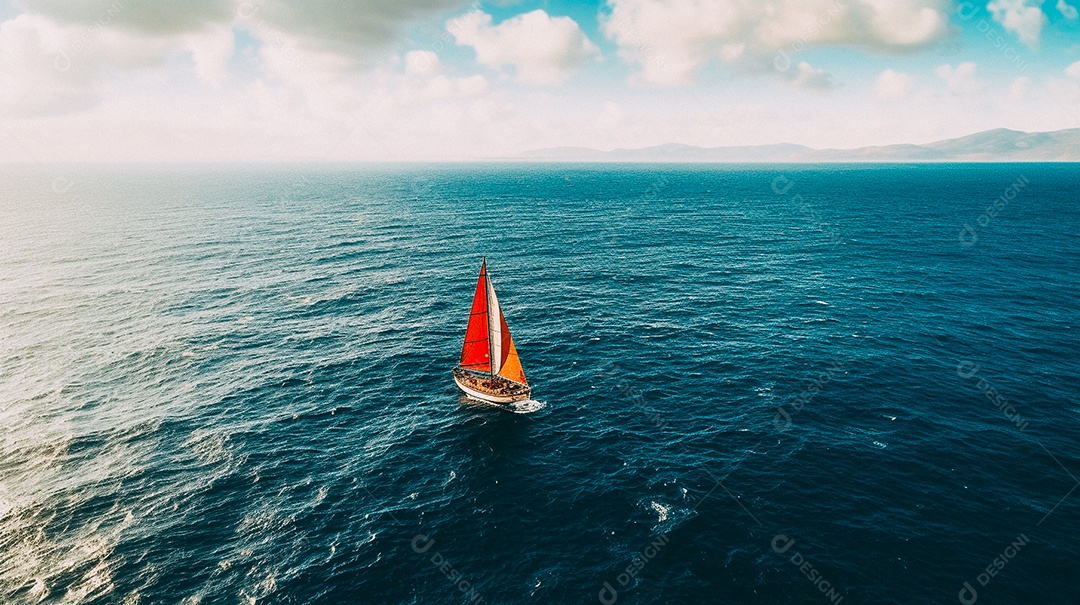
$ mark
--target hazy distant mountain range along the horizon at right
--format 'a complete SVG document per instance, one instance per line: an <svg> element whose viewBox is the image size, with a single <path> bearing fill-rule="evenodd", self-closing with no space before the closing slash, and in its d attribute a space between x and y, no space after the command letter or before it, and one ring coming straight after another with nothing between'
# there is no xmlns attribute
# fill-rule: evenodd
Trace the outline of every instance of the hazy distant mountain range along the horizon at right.
<svg viewBox="0 0 1080 605"><path fill-rule="evenodd" d="M995 129L924 145L813 149L802 145L694 147L670 143L642 149L602 151L552 147L517 160L572 162L1080 162L1080 129L1026 133Z"/></svg>

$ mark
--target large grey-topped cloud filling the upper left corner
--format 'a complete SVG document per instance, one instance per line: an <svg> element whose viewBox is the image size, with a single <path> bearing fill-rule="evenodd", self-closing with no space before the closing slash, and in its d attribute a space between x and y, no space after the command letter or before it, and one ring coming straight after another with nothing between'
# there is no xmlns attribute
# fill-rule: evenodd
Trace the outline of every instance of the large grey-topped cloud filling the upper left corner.
<svg viewBox="0 0 1080 605"><path fill-rule="evenodd" d="M185 58L200 82L221 85L235 52L234 27L262 42L264 75L332 88L325 80L373 64L408 23L464 0L12 2L24 12L0 22L0 110L49 115L93 106L125 71L157 69L166 82Z"/></svg>

